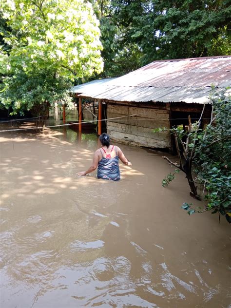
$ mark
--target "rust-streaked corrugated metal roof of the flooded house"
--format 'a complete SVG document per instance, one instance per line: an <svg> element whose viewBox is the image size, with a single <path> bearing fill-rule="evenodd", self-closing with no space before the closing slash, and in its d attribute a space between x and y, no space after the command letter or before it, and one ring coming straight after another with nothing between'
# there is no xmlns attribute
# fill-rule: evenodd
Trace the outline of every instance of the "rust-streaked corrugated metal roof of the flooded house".
<svg viewBox="0 0 231 308"><path fill-rule="evenodd" d="M103 79L105 80L105 79ZM115 101L209 102L231 86L231 56L154 61L122 77L87 85L80 96ZM79 93L79 92L78 92Z"/></svg>

